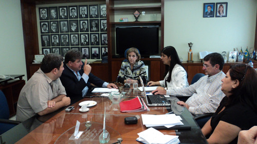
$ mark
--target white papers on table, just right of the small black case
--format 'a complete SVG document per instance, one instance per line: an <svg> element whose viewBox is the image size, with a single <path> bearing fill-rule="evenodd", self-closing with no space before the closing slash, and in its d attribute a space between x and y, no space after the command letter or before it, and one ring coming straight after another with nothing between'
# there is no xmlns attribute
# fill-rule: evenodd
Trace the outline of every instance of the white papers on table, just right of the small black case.
<svg viewBox="0 0 257 144"><path fill-rule="evenodd" d="M142 114L143 125L146 127L158 127L164 126L171 128L177 125L183 125L180 121L180 117L175 114L162 114L162 115L152 115L152 114Z"/></svg>

